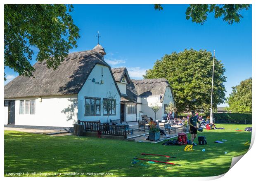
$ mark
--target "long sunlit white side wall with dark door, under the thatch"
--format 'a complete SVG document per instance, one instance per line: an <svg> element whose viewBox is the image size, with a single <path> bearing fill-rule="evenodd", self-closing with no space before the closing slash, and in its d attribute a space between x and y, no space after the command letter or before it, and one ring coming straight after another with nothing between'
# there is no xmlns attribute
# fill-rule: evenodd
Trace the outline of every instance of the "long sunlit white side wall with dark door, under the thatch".
<svg viewBox="0 0 256 181"><path fill-rule="evenodd" d="M73 127L77 122L77 95L58 95L39 97L21 97L15 100L15 125L34 125L34 126L57 126ZM35 114L19 114L20 100L35 100ZM8 123L7 114L4 114L4 122Z"/></svg>

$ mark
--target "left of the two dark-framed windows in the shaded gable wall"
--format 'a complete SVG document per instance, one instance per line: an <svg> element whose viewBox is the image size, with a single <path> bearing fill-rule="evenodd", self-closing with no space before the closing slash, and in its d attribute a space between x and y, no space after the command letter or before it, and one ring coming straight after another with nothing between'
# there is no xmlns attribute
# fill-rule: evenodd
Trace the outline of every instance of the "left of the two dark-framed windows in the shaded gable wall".
<svg viewBox="0 0 256 181"><path fill-rule="evenodd" d="M100 98L85 97L85 116L100 116Z"/></svg>

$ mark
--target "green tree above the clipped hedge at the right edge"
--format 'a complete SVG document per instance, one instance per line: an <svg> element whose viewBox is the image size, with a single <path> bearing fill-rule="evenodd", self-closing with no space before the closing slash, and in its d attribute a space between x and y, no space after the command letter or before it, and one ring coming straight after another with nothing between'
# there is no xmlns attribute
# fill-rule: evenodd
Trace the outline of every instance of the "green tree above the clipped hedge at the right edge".
<svg viewBox="0 0 256 181"><path fill-rule="evenodd" d="M229 110L239 113L251 113L251 85L252 79L241 81L238 86L232 87L232 93L227 99Z"/></svg>

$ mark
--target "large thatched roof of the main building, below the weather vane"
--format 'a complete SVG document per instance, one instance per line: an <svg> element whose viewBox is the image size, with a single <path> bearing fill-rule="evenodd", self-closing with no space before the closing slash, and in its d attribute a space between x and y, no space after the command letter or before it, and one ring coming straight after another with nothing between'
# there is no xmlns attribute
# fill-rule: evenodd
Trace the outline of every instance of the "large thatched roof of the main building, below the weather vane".
<svg viewBox="0 0 256 181"><path fill-rule="evenodd" d="M45 61L37 62L33 65L35 78L16 77L5 85L5 98L78 94L96 64L111 72L102 54L94 50L70 53L57 70L48 69ZM116 88L119 91L117 84Z"/></svg>

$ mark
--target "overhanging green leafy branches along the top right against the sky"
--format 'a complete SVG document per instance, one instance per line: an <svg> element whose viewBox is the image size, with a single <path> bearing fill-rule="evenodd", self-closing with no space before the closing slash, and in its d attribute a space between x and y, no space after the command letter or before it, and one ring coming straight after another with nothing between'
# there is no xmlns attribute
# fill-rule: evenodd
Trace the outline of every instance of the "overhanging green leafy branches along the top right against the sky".
<svg viewBox="0 0 256 181"><path fill-rule="evenodd" d="M162 5L154 5L155 9L162 10ZM240 13L242 10L248 10L250 5L190 5L186 10L186 19L192 19L192 22L204 24L209 13L214 13L215 18L223 16L223 21L232 24L239 23L243 18Z"/></svg>

